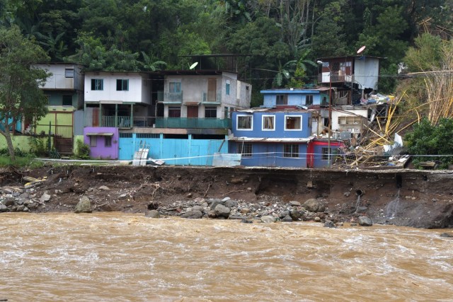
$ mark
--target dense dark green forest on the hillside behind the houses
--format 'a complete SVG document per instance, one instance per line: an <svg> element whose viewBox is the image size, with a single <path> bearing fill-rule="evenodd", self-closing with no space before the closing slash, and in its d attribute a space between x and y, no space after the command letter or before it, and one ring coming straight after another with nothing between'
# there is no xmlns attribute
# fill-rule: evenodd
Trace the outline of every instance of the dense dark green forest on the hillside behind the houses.
<svg viewBox="0 0 453 302"><path fill-rule="evenodd" d="M17 25L52 62L87 70L234 69L262 88L314 83L316 58L384 57L379 90L428 33L451 40L453 0L0 0L0 26ZM233 61L234 60L234 61ZM415 59L417 62L417 59ZM418 71L418 68L413 69Z"/></svg>

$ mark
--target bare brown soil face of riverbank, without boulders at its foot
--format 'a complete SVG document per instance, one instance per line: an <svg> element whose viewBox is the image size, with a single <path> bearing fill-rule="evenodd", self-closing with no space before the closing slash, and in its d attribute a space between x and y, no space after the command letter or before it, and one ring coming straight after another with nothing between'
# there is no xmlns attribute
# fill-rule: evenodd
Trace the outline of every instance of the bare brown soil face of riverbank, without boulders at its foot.
<svg viewBox="0 0 453 302"><path fill-rule="evenodd" d="M83 195L90 197L96 211L128 212L144 212L151 202L166 206L196 197L302 204L319 198L336 221L365 215L374 223L398 226L453 225L451 171L63 166L2 170L0 185L23 187L23 176L46 179L31 194L40 199L47 192L51 198L30 209L35 212L72 211Z"/></svg>

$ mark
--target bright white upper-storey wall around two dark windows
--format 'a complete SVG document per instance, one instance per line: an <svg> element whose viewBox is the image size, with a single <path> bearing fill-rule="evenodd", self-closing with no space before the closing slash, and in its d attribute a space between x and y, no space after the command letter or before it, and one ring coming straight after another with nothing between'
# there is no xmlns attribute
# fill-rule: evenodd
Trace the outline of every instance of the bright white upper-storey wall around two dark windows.
<svg viewBox="0 0 453 302"><path fill-rule="evenodd" d="M91 79L103 79L103 90L92 91ZM129 80L128 91L117 91L116 80ZM149 86L143 85L143 75L134 73L104 73L87 72L85 74L85 101L100 102L103 104L122 103L151 103L151 90ZM145 90L145 91L144 91Z"/></svg>

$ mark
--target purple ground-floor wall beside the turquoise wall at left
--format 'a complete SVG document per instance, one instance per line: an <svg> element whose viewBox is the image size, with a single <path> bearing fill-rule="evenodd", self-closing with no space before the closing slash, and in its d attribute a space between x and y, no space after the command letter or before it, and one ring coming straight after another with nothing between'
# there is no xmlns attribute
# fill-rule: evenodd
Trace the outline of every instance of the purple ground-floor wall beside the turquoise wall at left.
<svg viewBox="0 0 453 302"><path fill-rule="evenodd" d="M100 134L96 136L88 136L87 134ZM113 133L111 146L105 146L105 138L110 137L101 134ZM90 137L96 140L96 146L90 146ZM117 159L118 158L118 129L115 127L85 127L84 128L84 143L90 146L90 156L93 158L102 159Z"/></svg>

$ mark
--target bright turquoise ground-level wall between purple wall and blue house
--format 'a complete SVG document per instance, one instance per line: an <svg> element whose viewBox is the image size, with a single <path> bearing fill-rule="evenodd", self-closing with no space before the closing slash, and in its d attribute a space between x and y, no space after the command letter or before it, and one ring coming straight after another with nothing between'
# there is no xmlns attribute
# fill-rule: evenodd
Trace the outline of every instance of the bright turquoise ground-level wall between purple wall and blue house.
<svg viewBox="0 0 453 302"><path fill-rule="evenodd" d="M214 153L226 153L223 139L165 139L164 134L120 134L119 159L132 161L139 146L149 146L148 158L161 159L166 165L212 165Z"/></svg>

